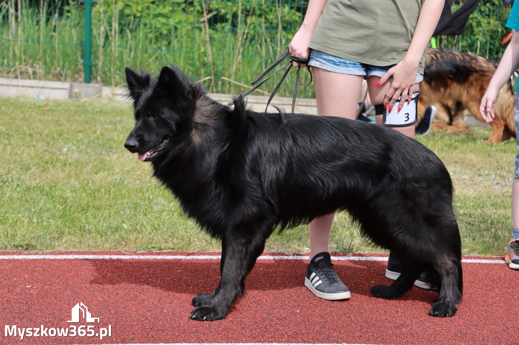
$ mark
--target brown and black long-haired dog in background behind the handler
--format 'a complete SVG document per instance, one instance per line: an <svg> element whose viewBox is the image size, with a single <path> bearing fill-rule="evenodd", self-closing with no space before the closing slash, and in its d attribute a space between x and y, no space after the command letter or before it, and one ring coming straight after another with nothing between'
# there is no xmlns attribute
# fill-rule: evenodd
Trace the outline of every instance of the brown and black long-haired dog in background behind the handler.
<svg viewBox="0 0 519 345"><path fill-rule="evenodd" d="M455 49L428 49L424 81L420 83L418 116L434 105L438 108L432 128L450 132L467 132L463 125L464 110L484 121L480 103L494 75L497 63L482 56ZM496 117L490 126L492 134L486 142L499 142L515 137L515 97L511 83L504 84L495 107Z"/></svg>

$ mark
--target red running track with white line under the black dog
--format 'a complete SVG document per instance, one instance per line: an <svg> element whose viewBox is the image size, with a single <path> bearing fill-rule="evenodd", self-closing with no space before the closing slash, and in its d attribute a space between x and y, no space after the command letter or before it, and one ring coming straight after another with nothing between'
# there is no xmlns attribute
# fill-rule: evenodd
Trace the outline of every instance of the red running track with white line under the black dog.
<svg viewBox="0 0 519 345"><path fill-rule="evenodd" d="M413 287L395 300L371 296L373 285L390 282L387 256L336 255L351 299L326 301L303 285L307 258L264 255L226 319L191 320L192 298L219 280L218 259L218 253L2 253L0 343L519 342L519 271L501 258L464 257L463 301L453 318L441 319L428 315L436 292ZM79 322L67 322L75 321L74 307ZM99 322L86 322L78 307ZM68 336L58 336L65 330Z"/></svg>

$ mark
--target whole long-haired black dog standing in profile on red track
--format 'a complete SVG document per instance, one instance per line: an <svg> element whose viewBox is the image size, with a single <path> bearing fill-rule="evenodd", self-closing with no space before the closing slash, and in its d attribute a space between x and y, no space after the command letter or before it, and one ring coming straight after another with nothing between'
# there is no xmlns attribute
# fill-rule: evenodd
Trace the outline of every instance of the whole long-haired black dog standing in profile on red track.
<svg viewBox="0 0 519 345"><path fill-rule="evenodd" d="M276 227L348 210L363 233L399 257L404 271L376 297L439 273L430 314L452 316L461 299L461 240L453 185L440 159L384 126L336 117L257 113L241 97L221 105L175 67L157 79L127 68L135 127L125 142L179 199L189 217L222 240L221 280L193 299L190 317L218 320Z"/></svg>

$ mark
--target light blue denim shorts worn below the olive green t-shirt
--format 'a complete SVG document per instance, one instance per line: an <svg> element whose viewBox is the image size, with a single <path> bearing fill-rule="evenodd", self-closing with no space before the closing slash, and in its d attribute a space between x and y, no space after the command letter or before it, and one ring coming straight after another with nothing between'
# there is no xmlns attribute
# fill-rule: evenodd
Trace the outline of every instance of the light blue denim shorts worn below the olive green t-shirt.
<svg viewBox="0 0 519 345"><path fill-rule="evenodd" d="M354 62L324 53L319 50L313 50L310 52L310 62L308 65L313 67L319 67L336 73L349 74L354 76L364 76L364 78L377 76L382 77L386 74L391 66L375 66L363 64L360 62ZM389 78L393 80L393 78ZM420 73L416 74L415 83L419 83L424 80L424 76Z"/></svg>

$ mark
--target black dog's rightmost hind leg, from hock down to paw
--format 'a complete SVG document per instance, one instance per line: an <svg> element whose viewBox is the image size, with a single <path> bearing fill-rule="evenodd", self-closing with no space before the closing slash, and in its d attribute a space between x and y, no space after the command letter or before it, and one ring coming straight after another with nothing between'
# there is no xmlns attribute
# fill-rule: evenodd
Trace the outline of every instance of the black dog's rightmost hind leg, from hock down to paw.
<svg viewBox="0 0 519 345"><path fill-rule="evenodd" d="M433 304L429 313L435 317L452 317L461 300L462 276L461 261L459 258L443 257L443 260L433 267L438 271L442 279L440 298Z"/></svg>

